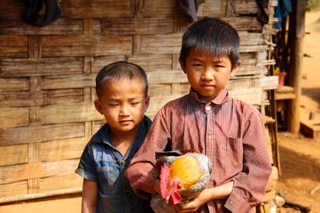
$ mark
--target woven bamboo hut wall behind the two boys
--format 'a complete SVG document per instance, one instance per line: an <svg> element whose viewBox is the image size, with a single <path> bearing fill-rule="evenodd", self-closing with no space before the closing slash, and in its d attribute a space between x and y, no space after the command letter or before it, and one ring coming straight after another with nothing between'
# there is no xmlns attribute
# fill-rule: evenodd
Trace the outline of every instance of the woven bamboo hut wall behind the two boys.
<svg viewBox="0 0 320 213"><path fill-rule="evenodd" d="M270 9L274 2L270 1ZM147 72L153 118L189 90L178 65L188 18L173 0L60 0L58 21L40 28L23 19L23 1L0 5L0 202L80 192L74 170L85 144L104 124L95 111L95 75L116 60ZM234 97L268 104L270 24L255 0L206 0L198 16L238 29L242 66L228 85Z"/></svg>

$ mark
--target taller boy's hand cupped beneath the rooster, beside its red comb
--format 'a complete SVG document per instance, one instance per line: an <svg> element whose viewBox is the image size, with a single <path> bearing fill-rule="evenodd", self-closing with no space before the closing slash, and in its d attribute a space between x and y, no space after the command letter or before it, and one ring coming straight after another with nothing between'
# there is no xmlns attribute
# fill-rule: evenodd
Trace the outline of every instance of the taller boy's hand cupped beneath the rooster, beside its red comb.
<svg viewBox="0 0 320 213"><path fill-rule="evenodd" d="M205 189L196 195L183 197L184 203L175 204L172 207L176 212L195 212L199 207L211 199L210 189ZM186 202L188 200L189 202Z"/></svg>

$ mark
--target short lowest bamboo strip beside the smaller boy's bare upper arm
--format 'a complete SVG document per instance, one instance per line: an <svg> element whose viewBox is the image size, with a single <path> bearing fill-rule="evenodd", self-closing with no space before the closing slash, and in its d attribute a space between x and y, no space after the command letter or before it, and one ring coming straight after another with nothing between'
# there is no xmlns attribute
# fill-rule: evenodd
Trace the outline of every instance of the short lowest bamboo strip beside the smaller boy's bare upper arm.
<svg viewBox="0 0 320 213"><path fill-rule="evenodd" d="M39 193L82 187L82 182L83 178L75 173L65 175L62 177L41 178L39 185Z"/></svg>

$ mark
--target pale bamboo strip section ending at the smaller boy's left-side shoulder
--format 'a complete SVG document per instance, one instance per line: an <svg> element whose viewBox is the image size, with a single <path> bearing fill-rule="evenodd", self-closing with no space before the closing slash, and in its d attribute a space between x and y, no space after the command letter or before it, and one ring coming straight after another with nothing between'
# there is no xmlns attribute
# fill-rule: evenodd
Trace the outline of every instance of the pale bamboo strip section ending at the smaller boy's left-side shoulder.
<svg viewBox="0 0 320 213"><path fill-rule="evenodd" d="M41 143L41 162L80 158L90 137L69 138Z"/></svg>

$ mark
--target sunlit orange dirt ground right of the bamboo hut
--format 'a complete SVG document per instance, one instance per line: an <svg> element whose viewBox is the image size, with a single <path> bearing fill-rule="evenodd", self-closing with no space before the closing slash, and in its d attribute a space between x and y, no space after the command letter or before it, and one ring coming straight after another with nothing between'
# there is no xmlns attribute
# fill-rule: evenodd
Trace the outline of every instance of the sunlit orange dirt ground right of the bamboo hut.
<svg viewBox="0 0 320 213"><path fill-rule="evenodd" d="M320 121L320 10L306 12L304 38L302 114L314 111L314 119ZM309 34L310 33L310 34ZM320 138L312 140L302 135L279 132L279 155L282 175L277 181L277 191L287 194L286 200L320 212ZM279 212L299 212L292 208L280 208Z"/></svg>

